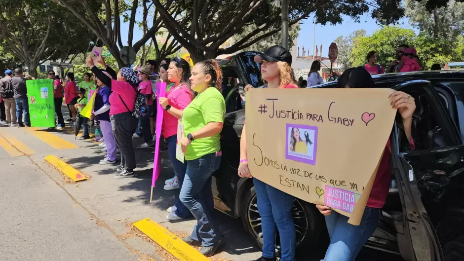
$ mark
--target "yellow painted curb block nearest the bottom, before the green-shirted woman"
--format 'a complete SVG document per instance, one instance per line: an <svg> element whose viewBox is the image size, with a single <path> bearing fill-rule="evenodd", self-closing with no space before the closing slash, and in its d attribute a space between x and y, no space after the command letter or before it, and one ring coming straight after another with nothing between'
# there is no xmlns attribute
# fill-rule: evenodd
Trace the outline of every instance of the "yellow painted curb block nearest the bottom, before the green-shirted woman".
<svg viewBox="0 0 464 261"><path fill-rule="evenodd" d="M132 224L180 261L210 261L166 228L147 218Z"/></svg>

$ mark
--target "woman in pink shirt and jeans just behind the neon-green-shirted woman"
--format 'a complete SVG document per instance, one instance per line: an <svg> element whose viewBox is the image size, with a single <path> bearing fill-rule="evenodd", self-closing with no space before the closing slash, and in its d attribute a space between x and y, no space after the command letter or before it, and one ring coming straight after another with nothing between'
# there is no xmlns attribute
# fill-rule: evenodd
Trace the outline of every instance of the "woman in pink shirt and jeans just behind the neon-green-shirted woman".
<svg viewBox="0 0 464 261"><path fill-rule="evenodd" d="M167 151L171 160L172 167L176 176L164 186L164 189L182 189L185 173L187 170L187 160L184 163L176 159L177 147L177 123L182 118L182 112L192 102L193 92L190 89L190 65L184 59L175 59L169 64L167 71L168 80L174 83L171 89L166 92L165 98L159 98L158 102L164 109L161 133L167 140ZM168 182L166 181L166 182ZM193 217L190 210L177 200L176 205L167 209L168 220L180 220Z"/></svg>

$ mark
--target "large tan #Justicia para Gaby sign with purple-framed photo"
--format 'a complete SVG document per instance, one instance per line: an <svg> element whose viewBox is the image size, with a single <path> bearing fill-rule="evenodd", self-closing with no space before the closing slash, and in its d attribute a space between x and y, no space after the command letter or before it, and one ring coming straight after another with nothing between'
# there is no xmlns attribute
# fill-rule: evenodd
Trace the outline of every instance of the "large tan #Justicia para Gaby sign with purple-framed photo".
<svg viewBox="0 0 464 261"><path fill-rule="evenodd" d="M396 113L391 92L252 90L246 106L251 174L358 225Z"/></svg>

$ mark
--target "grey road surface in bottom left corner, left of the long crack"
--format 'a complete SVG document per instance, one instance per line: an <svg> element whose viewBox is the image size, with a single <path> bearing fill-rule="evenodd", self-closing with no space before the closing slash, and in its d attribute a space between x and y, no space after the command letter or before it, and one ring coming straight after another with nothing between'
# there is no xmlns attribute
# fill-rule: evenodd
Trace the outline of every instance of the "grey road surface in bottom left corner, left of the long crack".
<svg viewBox="0 0 464 261"><path fill-rule="evenodd" d="M27 156L0 166L0 260L137 260Z"/></svg>

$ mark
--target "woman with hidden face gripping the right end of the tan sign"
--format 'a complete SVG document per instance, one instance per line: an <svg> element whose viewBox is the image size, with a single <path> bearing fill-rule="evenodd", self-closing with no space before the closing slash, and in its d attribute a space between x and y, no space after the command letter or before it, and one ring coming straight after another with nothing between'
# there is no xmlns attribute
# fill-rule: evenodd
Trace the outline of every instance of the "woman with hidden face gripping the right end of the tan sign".
<svg viewBox="0 0 464 261"><path fill-rule="evenodd" d="M338 82L341 88L374 87L371 75L362 67L348 69L340 76ZM387 97L385 98L387 99ZM391 108L397 109L401 114L404 132L410 141L411 148L414 148L411 139L412 115L416 110L414 98L404 92L395 91L390 94L388 99L390 99ZM388 162L391 153L389 149L390 142L388 140L359 225L348 224L348 217L332 211L330 207L316 205L317 209L325 216L330 236L330 245L324 261L354 261L362 246L374 233L382 216L382 208L387 200L390 185L391 169Z"/></svg>

